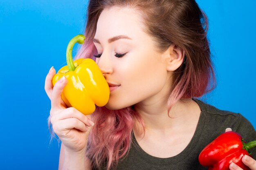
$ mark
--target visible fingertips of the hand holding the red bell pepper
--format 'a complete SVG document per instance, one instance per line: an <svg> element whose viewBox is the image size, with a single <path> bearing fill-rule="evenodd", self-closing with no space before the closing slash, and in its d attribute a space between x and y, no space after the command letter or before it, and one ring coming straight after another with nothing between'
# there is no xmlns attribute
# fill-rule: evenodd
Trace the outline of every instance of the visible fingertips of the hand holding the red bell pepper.
<svg viewBox="0 0 256 170"><path fill-rule="evenodd" d="M228 131L232 131L232 129L231 128L227 128L226 132L228 132ZM242 161L251 170L256 170L256 160L253 159L252 157L249 157L249 156L245 155L245 156L243 156ZM237 166L236 163L233 163L233 162L229 165L229 169L230 170L243 170L242 168Z"/></svg>

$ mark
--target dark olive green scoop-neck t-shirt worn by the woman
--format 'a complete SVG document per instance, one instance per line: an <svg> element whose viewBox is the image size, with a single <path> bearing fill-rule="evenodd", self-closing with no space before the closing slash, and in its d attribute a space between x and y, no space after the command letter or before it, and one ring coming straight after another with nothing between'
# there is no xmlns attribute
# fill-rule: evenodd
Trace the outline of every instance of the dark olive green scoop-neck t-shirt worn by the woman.
<svg viewBox="0 0 256 170"><path fill-rule="evenodd" d="M247 142L256 140L254 127L241 114L219 110L198 99L194 100L201 109L200 118L189 145L180 154L170 158L153 157L141 149L132 135L130 151L118 162L117 170L208 170L200 165L198 156L202 149L225 132L226 128L232 128ZM251 152L256 158L256 148Z"/></svg>

